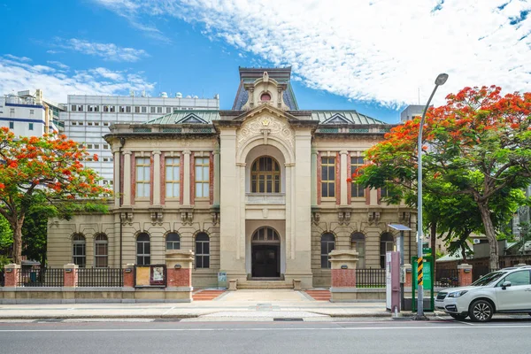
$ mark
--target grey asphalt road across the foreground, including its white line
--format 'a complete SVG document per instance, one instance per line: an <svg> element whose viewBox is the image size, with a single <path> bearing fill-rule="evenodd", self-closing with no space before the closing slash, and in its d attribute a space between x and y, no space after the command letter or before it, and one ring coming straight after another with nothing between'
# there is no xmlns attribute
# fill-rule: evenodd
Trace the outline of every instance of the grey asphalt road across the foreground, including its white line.
<svg viewBox="0 0 531 354"><path fill-rule="evenodd" d="M531 319L0 323L2 353L528 353Z"/></svg>

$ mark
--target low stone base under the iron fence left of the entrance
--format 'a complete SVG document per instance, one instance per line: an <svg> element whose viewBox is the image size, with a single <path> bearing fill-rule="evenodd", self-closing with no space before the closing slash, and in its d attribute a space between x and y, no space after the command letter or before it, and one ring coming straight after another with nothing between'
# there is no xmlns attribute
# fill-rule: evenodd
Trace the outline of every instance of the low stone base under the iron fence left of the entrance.
<svg viewBox="0 0 531 354"><path fill-rule="evenodd" d="M0 304L191 303L191 287L0 288Z"/></svg>

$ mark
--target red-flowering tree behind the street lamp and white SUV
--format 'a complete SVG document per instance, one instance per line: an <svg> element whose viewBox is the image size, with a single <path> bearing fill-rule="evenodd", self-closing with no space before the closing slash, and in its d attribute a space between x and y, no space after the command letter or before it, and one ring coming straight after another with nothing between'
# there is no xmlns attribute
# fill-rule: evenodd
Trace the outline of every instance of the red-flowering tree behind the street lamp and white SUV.
<svg viewBox="0 0 531 354"><path fill-rule="evenodd" d="M501 95L496 86L465 88L430 108L423 134L423 188L435 196L469 196L498 266L496 226L520 189L531 183L531 93ZM368 163L352 178L387 187L390 202L416 204L419 119L395 127L366 151ZM510 196L510 197L509 197ZM505 214L507 214L505 212ZM460 220L456 219L455 223Z"/></svg>

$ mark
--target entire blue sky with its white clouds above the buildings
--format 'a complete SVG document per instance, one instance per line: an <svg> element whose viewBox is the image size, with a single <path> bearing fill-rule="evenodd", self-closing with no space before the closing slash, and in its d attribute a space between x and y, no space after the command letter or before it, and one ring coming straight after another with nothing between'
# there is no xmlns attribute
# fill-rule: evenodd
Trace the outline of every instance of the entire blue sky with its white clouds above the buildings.
<svg viewBox="0 0 531 354"><path fill-rule="evenodd" d="M527 0L324 3L0 0L0 93L43 89L65 102L180 91L219 94L230 109L239 65L292 65L300 108L395 123L405 104L426 101L441 72L450 79L435 104L465 86L531 90Z"/></svg>

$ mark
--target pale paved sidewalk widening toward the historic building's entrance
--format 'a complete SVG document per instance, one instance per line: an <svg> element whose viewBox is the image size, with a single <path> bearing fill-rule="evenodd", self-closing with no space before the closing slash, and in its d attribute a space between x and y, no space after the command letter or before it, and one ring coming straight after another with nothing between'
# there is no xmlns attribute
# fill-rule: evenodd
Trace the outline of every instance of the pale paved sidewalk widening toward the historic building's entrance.
<svg viewBox="0 0 531 354"><path fill-rule="evenodd" d="M402 312L411 316L411 312ZM433 314L432 314L433 315ZM293 290L238 290L185 304L3 304L2 319L330 319L387 317L384 302L330 303Z"/></svg>

